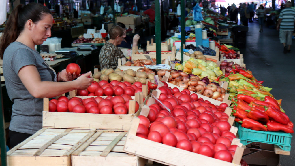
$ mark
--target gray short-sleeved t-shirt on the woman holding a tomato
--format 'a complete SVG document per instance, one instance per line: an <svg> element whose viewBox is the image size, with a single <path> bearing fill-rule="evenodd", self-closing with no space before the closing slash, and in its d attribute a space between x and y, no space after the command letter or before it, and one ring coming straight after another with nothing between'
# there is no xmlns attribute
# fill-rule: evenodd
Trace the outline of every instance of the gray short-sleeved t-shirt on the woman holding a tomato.
<svg viewBox="0 0 295 166"><path fill-rule="evenodd" d="M9 130L34 134L42 128L43 99L33 97L18 77L19 70L35 65L41 81L56 81L55 71L40 54L20 42L11 43L4 52L3 74L12 105Z"/></svg>

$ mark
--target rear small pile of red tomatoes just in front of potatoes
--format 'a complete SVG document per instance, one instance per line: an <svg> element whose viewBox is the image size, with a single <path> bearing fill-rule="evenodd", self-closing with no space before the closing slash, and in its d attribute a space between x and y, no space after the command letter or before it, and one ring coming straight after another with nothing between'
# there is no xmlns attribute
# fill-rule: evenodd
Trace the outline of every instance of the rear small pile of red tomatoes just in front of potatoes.
<svg viewBox="0 0 295 166"><path fill-rule="evenodd" d="M137 92L142 92L142 83L124 81L119 82L112 80L110 83L106 80L99 82L92 81L91 85L85 90L77 90L77 95L80 96L120 96L122 94L129 94L134 96ZM148 87L148 93L150 88Z"/></svg>

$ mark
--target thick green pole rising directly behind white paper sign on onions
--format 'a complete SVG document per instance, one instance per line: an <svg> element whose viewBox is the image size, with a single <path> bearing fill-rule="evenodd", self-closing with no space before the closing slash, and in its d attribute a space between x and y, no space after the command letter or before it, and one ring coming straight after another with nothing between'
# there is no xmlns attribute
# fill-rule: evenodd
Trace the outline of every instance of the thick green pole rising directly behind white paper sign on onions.
<svg viewBox="0 0 295 166"><path fill-rule="evenodd" d="M161 55L161 1L155 1L155 28L156 28L156 59L157 64L162 63Z"/></svg>

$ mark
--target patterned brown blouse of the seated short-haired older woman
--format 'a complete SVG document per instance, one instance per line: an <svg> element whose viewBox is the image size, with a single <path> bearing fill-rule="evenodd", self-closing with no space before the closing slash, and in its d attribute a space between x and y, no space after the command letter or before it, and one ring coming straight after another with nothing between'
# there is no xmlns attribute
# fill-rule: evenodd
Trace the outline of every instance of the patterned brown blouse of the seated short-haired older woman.
<svg viewBox="0 0 295 166"><path fill-rule="evenodd" d="M118 58L126 57L117 46L107 41L99 53L100 69L117 69Z"/></svg>

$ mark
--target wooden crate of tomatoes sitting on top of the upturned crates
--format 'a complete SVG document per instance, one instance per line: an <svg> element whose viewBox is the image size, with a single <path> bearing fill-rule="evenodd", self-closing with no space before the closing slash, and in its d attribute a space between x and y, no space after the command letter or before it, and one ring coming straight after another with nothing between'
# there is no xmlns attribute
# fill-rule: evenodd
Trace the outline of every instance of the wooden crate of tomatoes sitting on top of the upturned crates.
<svg viewBox="0 0 295 166"><path fill-rule="evenodd" d="M79 96L88 98L91 96ZM48 98L43 99L43 127L46 128L72 128L72 129L106 129L114 131L128 131L135 113L135 100L129 102L128 114L89 114L73 112L49 112ZM140 103L139 103L140 104Z"/></svg>

